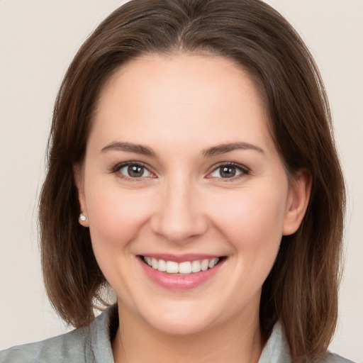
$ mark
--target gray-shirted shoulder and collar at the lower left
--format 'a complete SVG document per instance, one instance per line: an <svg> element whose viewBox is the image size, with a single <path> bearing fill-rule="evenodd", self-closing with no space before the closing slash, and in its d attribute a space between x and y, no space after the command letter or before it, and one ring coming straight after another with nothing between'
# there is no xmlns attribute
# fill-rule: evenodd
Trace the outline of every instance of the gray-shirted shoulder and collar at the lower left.
<svg viewBox="0 0 363 363"><path fill-rule="evenodd" d="M109 324L114 307L106 309L91 325L41 342L18 345L0 352L0 363L15 362L113 362Z"/></svg>

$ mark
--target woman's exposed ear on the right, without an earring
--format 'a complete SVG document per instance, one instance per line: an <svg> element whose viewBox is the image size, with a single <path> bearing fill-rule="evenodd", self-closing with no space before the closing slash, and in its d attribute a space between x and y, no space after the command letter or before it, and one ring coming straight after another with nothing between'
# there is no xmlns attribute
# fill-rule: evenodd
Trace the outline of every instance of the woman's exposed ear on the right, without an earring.
<svg viewBox="0 0 363 363"><path fill-rule="evenodd" d="M310 199L311 179L311 173L307 169L301 169L291 177L283 235L292 235L301 225Z"/></svg>

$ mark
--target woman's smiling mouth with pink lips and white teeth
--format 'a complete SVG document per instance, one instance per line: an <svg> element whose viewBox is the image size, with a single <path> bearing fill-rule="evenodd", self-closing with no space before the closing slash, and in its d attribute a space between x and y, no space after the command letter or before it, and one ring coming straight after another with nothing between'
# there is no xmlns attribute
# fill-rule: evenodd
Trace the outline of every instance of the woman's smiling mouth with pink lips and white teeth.
<svg viewBox="0 0 363 363"><path fill-rule="evenodd" d="M194 289L211 280L220 270L225 256L138 255L146 276L164 289Z"/></svg>

